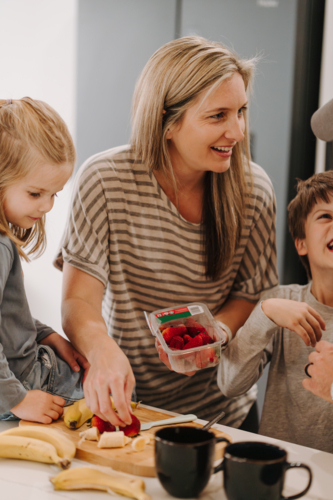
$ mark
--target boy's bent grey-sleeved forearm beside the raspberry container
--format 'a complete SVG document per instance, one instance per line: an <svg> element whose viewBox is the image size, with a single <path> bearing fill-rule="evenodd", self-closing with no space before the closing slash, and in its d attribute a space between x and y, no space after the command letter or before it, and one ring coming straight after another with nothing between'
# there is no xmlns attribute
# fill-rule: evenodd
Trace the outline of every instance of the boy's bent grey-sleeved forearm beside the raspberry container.
<svg viewBox="0 0 333 500"><path fill-rule="evenodd" d="M272 337L278 329L258 304L222 352L217 382L225 396L244 394L257 382L271 359Z"/></svg>

